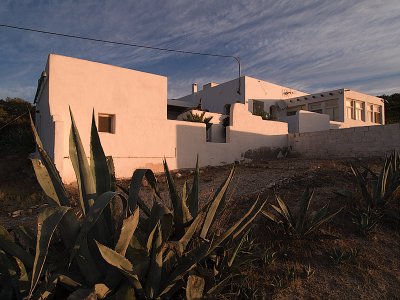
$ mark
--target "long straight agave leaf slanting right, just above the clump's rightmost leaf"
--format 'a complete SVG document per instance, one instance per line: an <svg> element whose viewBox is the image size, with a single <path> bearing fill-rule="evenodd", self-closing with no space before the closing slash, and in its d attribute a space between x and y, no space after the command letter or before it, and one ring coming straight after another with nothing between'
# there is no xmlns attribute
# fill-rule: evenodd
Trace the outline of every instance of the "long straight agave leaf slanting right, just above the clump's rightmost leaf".
<svg viewBox="0 0 400 300"><path fill-rule="evenodd" d="M231 169L228 177L226 178L225 182L221 184L219 189L216 191L213 200L211 201L211 205L208 209L206 218L204 220L203 227L201 229L200 237L206 239L207 233L210 230L212 223L214 222L214 218L216 216L217 211L219 211L225 200L225 195L228 190L229 184L232 181L233 174L235 173L235 168Z"/></svg>

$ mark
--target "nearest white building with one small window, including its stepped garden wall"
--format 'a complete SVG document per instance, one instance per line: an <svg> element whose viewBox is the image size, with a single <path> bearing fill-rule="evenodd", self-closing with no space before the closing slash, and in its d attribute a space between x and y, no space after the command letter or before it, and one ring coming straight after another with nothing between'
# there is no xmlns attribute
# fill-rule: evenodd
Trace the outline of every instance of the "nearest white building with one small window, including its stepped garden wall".
<svg viewBox="0 0 400 300"><path fill-rule="evenodd" d="M87 155L94 110L117 177L130 177L136 168L161 171L164 157L171 169L192 168L197 154L200 166L220 165L260 147L272 152L287 147L287 123L264 121L235 101L227 126L222 130L216 124L207 141L204 123L167 119L166 77L51 54L35 97L36 126L65 182L75 180L69 159L69 107ZM223 119L214 114L214 121Z"/></svg>

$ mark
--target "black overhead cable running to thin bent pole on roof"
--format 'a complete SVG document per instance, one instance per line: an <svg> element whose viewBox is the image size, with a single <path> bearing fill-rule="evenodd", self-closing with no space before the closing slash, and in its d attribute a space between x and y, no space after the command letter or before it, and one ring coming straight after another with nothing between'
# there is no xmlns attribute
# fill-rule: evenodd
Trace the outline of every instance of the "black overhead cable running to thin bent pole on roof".
<svg viewBox="0 0 400 300"><path fill-rule="evenodd" d="M186 51L186 50L180 50L180 49L171 49L171 48L153 47L153 46L148 46L148 45L131 44L131 43L125 43L125 42L116 42L116 41L96 39L96 38L90 38L90 37L79 36L79 35L72 35L72 34L53 32L53 31L39 30L39 29L34 29L34 28L19 27L19 26L13 26L13 25L8 25L8 24L0 24L0 27L17 29L17 30L22 30L22 31L35 32L35 33L43 33L43 34L55 35L55 36L59 36L59 37L80 39L80 40L85 40L85 41L113 44L113 45L120 45L120 46L128 46L128 47L135 47L135 48L143 48L143 49L150 49L150 50L158 50L158 51L166 51L166 52L174 52L174 53L180 53L180 54L212 56L212 57L220 57L220 58L233 58L233 59L236 60L236 62L238 64L239 88L238 88L237 92L238 92L238 94L240 94L241 65L240 65L240 57L239 56L216 54L216 53L206 53L206 52Z"/></svg>

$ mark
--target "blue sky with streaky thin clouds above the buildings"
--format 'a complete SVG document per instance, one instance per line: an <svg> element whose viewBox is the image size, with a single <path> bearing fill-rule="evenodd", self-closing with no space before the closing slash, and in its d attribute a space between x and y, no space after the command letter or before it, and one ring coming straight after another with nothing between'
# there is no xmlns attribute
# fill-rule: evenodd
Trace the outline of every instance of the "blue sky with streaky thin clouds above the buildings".
<svg viewBox="0 0 400 300"><path fill-rule="evenodd" d="M113 41L238 55L242 74L305 92L400 92L400 1L2 0L0 23ZM237 77L233 59L105 45L0 27L0 98L33 100L57 53L191 83Z"/></svg>

